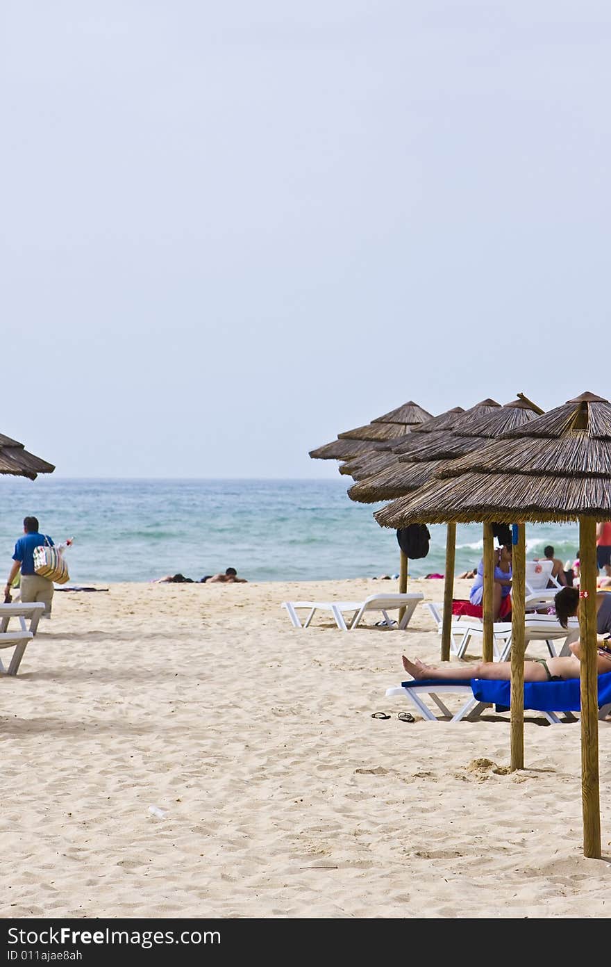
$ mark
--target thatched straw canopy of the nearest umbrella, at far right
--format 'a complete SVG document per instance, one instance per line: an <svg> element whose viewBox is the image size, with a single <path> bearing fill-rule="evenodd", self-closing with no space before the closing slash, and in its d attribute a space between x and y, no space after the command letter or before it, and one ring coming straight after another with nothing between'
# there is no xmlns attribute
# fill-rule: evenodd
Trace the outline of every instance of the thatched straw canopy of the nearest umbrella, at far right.
<svg viewBox="0 0 611 967"><path fill-rule="evenodd" d="M393 501L375 519L382 527L441 523L450 516L509 523L607 519L610 483L611 404L584 393L444 463L430 484Z"/></svg>

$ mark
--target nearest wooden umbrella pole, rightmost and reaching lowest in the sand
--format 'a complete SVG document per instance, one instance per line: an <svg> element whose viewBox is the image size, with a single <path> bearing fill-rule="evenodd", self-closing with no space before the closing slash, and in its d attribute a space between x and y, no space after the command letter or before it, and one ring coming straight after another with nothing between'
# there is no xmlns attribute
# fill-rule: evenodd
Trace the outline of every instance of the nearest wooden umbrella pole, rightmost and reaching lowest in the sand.
<svg viewBox="0 0 611 967"><path fill-rule="evenodd" d="M581 644L581 802L583 855L600 859L597 702L597 522L579 518L579 640Z"/></svg>

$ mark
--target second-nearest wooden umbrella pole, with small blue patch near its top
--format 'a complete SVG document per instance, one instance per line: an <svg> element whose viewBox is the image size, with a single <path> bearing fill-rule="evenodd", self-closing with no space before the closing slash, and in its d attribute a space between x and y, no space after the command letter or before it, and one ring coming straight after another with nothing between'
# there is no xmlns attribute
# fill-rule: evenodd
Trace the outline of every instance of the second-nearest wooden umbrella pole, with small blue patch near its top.
<svg viewBox="0 0 611 967"><path fill-rule="evenodd" d="M511 770L524 768L524 615L526 529L517 525L512 562L512 758Z"/></svg>

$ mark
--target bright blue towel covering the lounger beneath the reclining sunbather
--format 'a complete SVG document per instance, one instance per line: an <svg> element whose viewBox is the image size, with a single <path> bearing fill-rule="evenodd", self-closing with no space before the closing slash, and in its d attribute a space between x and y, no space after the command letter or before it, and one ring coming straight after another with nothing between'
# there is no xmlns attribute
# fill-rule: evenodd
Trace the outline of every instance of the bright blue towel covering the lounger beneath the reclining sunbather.
<svg viewBox="0 0 611 967"><path fill-rule="evenodd" d="M432 682L430 684L432 685ZM474 697L479 702L505 705L510 708L511 682L474 678L469 684ZM538 712L579 712L581 709L579 684L578 678L571 678L566 682L526 682L524 708L535 709ZM611 671L598 675L598 706L606 705L608 702L611 702Z"/></svg>

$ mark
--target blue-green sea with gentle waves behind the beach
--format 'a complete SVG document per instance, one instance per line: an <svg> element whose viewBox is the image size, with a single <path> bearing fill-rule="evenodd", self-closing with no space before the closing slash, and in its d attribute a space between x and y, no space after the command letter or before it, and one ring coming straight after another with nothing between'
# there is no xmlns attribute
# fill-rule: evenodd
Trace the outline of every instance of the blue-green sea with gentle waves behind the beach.
<svg viewBox="0 0 611 967"><path fill-rule="evenodd" d="M193 580L236 568L249 581L379 577L399 571L395 531L379 527L382 504L355 504L334 480L69 480L2 476L0 555L6 572L23 517L39 518L66 551L70 583L152 581L182 573ZM430 525L430 551L409 573L445 570L446 528ZM527 526L527 553L576 556L576 524ZM481 524L458 525L456 571L477 566ZM0 565L1 567L1 565Z"/></svg>

